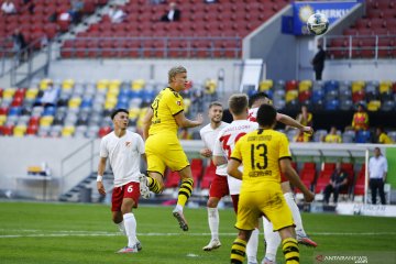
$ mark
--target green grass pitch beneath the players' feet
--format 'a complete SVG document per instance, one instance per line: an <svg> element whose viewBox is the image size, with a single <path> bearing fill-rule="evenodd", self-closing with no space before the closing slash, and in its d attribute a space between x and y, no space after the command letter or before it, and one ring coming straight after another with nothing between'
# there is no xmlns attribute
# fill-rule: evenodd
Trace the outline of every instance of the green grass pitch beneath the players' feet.
<svg viewBox="0 0 396 264"><path fill-rule="evenodd" d="M143 250L138 254L116 254L127 245L127 238L117 232L108 205L3 201L0 202L0 263L229 263L237 234L231 209L220 210L222 246L213 252L201 250L210 239L206 209L185 209L188 232L179 230L172 209L142 206L134 210ZM304 213L302 219L306 231L319 246L300 246L300 263L312 263L319 251L396 251L393 218ZM260 262L263 254L261 234ZM280 251L277 262L284 263Z"/></svg>

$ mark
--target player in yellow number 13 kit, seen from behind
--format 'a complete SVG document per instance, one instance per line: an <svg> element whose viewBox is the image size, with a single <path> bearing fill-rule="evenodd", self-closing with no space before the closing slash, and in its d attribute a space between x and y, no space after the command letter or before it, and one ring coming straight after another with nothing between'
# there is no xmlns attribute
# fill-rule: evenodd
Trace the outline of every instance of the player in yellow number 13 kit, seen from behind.
<svg viewBox="0 0 396 264"><path fill-rule="evenodd" d="M264 215L278 231L287 264L299 263L299 250L290 209L280 188L280 172L299 188L307 201L314 194L301 183L292 167L290 151L285 134L274 131L276 110L262 105L257 111L260 129L242 136L228 164L228 174L242 179L235 228L238 238L231 249L231 263L243 263L245 246L252 230ZM243 173L238 167L243 165Z"/></svg>

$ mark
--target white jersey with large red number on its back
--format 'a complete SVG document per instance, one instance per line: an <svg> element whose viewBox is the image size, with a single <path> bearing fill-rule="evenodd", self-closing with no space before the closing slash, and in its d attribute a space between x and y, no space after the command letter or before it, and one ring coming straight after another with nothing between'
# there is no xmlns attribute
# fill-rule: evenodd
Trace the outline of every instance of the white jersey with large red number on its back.
<svg viewBox="0 0 396 264"><path fill-rule="evenodd" d="M256 129L258 129L258 124L256 122L251 122L249 120L232 121L232 123L219 132L215 142L213 156L224 156L229 160L235 147L237 141ZM229 184L230 195L239 195L242 180L231 176L228 176L227 180Z"/></svg>

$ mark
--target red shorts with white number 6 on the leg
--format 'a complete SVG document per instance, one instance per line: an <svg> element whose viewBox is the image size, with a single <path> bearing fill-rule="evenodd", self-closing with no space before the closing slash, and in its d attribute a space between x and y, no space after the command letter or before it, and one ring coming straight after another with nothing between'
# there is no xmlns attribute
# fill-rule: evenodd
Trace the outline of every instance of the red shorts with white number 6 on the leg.
<svg viewBox="0 0 396 264"><path fill-rule="evenodd" d="M121 211L122 200L124 198L132 198L134 201L133 208L138 208L139 197L139 183L131 182L121 187L114 187L111 196L111 211Z"/></svg>

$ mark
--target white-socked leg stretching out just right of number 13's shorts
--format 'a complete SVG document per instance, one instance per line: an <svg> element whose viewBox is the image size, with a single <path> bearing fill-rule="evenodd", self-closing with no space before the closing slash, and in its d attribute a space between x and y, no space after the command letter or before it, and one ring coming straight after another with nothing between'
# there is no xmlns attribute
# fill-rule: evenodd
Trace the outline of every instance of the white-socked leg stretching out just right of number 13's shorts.
<svg viewBox="0 0 396 264"><path fill-rule="evenodd" d="M280 186L285 200L292 210L293 220L294 223L296 224L296 233L297 233L298 242L308 246L317 246L318 244L311 239L309 239L304 230L301 215L294 199L289 182L284 182L280 184Z"/></svg>

